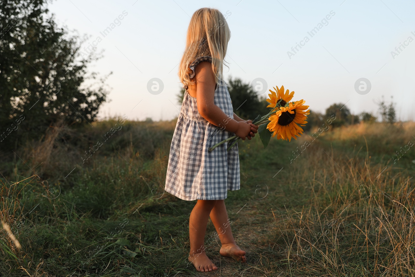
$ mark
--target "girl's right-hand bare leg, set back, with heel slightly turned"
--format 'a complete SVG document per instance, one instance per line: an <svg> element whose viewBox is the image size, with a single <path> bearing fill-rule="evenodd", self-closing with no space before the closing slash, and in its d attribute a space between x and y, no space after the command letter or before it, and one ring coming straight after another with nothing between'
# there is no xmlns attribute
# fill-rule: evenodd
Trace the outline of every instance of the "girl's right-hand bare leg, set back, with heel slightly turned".
<svg viewBox="0 0 415 277"><path fill-rule="evenodd" d="M225 200L217 200L215 206L210 211L210 219L215 225L216 232L219 235L222 248L220 255L231 257L236 261L246 262L246 252L241 250L235 243L229 223L228 213L226 211Z"/></svg>

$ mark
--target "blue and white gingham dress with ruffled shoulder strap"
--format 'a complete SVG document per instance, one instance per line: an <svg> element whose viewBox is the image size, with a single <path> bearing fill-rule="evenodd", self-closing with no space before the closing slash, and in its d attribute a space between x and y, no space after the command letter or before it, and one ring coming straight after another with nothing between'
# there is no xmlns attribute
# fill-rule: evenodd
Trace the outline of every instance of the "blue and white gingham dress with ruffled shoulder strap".
<svg viewBox="0 0 415 277"><path fill-rule="evenodd" d="M201 61L212 62L212 58L203 56L193 61L190 64L190 78L195 76L195 67ZM196 98L190 96L186 85L183 88L186 92L171 142L165 189L189 201L226 199L227 190L240 187L238 145L234 145L229 152L227 142L212 152L208 148L235 134L205 120L198 112ZM214 103L234 118L224 81L217 84Z"/></svg>

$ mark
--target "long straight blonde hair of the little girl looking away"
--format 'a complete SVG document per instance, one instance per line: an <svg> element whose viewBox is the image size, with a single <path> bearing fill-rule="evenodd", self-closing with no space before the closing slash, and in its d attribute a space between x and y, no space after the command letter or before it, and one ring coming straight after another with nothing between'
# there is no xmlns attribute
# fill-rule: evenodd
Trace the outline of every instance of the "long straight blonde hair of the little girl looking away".
<svg viewBox="0 0 415 277"><path fill-rule="evenodd" d="M220 84L230 36L228 24L219 10L201 8L195 11L190 19L186 49L179 65L180 81L183 84L194 83L189 76L190 64L201 56L210 56L215 81Z"/></svg>

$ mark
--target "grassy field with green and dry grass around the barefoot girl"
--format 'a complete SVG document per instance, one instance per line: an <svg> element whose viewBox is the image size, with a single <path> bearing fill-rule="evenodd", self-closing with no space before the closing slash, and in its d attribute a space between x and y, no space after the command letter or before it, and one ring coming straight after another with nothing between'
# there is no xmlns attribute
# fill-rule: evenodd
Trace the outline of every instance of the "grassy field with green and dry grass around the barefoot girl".
<svg viewBox="0 0 415 277"><path fill-rule="evenodd" d="M221 257L209 223L211 273L187 262L195 201L163 190L175 124L56 125L2 159L0 216L21 248L1 230L0 275L415 276L415 123L240 142L225 203L248 261Z"/></svg>

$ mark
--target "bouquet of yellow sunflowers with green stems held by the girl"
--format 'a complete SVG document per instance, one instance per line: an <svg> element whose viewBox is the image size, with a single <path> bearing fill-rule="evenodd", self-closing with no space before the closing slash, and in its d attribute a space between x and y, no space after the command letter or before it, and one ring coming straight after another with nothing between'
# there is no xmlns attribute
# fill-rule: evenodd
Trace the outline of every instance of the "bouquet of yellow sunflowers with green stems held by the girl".
<svg viewBox="0 0 415 277"><path fill-rule="evenodd" d="M303 99L290 102L294 96L294 91L289 93L287 89L284 93L284 86L281 86L281 88L277 86L274 90L269 90L271 94L268 94L269 99L266 99L269 103L267 108L271 108L270 112L262 117L258 115L252 120L255 125L259 126L258 134L264 148L268 146L269 140L271 137L275 137L275 135L277 136L277 140L291 141L291 138L296 140L297 138L295 136L300 137L303 134L303 128L300 126L305 126L304 124L307 123L307 115L310 114L310 110L307 110L309 106L304 105L305 101ZM240 137L235 135L226 140L222 140L210 147L209 151L234 139L236 140L227 149L229 151L238 142Z"/></svg>

